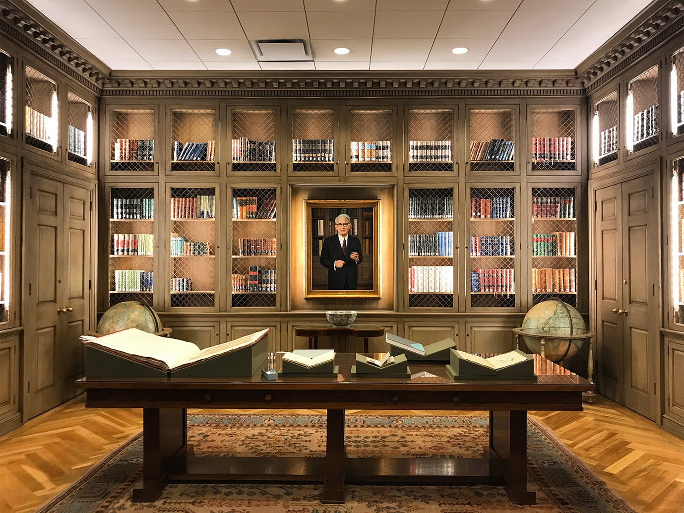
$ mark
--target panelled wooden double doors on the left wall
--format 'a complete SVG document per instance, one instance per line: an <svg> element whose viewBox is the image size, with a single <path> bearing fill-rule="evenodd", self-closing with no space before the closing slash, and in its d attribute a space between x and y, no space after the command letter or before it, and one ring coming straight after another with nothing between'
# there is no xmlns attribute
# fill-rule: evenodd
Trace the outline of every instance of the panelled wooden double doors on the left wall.
<svg viewBox="0 0 684 513"><path fill-rule="evenodd" d="M25 418L73 397L90 317L90 189L31 174L27 202Z"/></svg>

